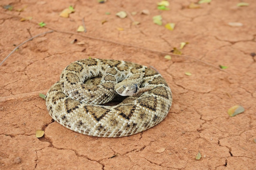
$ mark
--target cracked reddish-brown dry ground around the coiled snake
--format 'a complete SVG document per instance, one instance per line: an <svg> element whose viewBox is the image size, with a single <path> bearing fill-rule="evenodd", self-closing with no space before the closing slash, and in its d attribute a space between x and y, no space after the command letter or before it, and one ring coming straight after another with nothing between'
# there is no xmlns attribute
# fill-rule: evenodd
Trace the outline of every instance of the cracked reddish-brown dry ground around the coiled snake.
<svg viewBox="0 0 256 170"><path fill-rule="evenodd" d="M0 61L25 40L52 31L25 42L0 66L1 170L256 169L255 0L246 0L247 7L237 7L239 0L212 0L198 9L187 8L195 0L169 0L169 11L157 9L159 1L0 1L14 7L0 10ZM61 18L70 5L75 12ZM150 14L141 14L144 9ZM128 17L115 16L123 10ZM162 26L153 23L156 15L162 15ZM20 21L29 16L33 19ZM87 32L78 33L83 18ZM164 27L169 22L175 23L173 31ZM191 58L165 59L180 42L189 42L180 51ZM46 94L68 64L88 57L157 69L173 92L166 119L115 139L86 136L53 122L38 94ZM227 110L238 104L245 112L229 117ZM36 138L36 130L45 135Z"/></svg>

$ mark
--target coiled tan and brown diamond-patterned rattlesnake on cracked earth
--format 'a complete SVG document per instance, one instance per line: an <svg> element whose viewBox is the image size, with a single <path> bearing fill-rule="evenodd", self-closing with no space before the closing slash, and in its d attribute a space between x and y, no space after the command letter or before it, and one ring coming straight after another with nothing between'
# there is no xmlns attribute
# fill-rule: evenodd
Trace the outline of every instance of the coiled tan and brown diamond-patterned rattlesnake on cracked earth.
<svg viewBox="0 0 256 170"><path fill-rule="evenodd" d="M94 77L101 77L99 84L86 83ZM127 97L117 105L103 105L116 96ZM171 89L159 73L122 60L75 61L46 95L52 119L98 137L130 136L152 128L166 117L171 104Z"/></svg>

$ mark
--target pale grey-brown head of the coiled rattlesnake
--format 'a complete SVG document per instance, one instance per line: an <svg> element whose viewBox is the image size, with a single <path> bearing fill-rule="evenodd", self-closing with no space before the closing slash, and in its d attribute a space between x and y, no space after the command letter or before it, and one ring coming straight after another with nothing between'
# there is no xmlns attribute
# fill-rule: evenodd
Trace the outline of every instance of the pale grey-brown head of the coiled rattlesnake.
<svg viewBox="0 0 256 170"><path fill-rule="evenodd" d="M138 94L139 87L133 81L125 81L115 85L115 90L121 96L134 96Z"/></svg>

